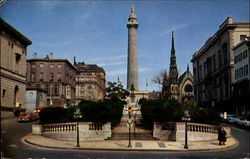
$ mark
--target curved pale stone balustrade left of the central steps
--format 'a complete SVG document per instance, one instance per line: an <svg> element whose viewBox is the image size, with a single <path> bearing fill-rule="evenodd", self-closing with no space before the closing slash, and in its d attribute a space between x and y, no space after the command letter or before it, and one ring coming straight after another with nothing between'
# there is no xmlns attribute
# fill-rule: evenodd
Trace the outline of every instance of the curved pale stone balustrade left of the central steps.
<svg viewBox="0 0 250 159"><path fill-rule="evenodd" d="M77 123L32 125L32 133L49 138L76 141ZM96 141L111 137L111 123L79 122L79 140Z"/></svg>

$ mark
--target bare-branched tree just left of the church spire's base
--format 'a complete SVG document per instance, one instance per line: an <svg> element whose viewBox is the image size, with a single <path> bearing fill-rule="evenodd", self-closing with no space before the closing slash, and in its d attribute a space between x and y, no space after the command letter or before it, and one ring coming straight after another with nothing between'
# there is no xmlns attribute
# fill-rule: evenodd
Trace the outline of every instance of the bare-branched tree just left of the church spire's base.
<svg viewBox="0 0 250 159"><path fill-rule="evenodd" d="M152 81L156 84L160 84L162 86L162 94L161 97L163 99L170 99L170 83L169 76L166 70L160 71L159 75L155 76Z"/></svg>

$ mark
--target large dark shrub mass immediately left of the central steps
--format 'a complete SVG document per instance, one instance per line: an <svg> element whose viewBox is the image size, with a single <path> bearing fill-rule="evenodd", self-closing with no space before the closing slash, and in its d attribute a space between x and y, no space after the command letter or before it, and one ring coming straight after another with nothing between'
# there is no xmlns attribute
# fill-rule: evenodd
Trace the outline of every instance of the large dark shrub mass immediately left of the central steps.
<svg viewBox="0 0 250 159"><path fill-rule="evenodd" d="M124 102L113 97L103 102L82 101L79 108L83 114L83 121L87 122L111 122L112 126L117 125L122 117Z"/></svg>

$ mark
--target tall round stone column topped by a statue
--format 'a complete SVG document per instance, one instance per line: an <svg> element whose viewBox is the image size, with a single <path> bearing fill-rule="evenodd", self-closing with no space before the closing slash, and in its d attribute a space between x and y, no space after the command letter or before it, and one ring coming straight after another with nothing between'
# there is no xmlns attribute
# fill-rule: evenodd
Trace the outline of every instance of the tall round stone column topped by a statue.
<svg viewBox="0 0 250 159"><path fill-rule="evenodd" d="M128 18L128 64L127 64L127 89L134 85L138 90L138 65L137 65L137 49L136 49L136 30L138 21L134 14L134 6L131 7L131 13Z"/></svg>

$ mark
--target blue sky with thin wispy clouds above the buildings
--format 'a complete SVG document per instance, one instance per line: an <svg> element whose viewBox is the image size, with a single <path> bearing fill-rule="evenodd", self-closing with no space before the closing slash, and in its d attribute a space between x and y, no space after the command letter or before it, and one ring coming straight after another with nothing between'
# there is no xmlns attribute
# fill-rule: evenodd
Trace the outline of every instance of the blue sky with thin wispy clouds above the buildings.
<svg viewBox="0 0 250 159"><path fill-rule="evenodd" d="M158 91L152 78L169 70L171 31L175 35L179 75L192 54L219 28L227 16L249 22L249 0L5 0L1 17L32 41L33 52L54 58L97 64L106 80L122 80L126 88L128 29L131 6L135 6L139 89ZM148 87L146 87L146 79Z"/></svg>

